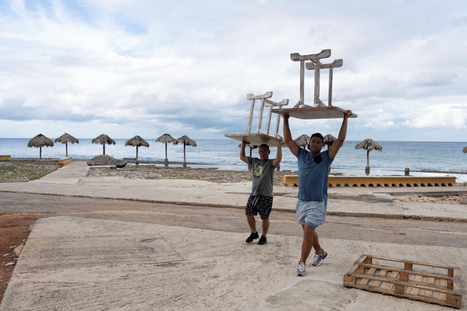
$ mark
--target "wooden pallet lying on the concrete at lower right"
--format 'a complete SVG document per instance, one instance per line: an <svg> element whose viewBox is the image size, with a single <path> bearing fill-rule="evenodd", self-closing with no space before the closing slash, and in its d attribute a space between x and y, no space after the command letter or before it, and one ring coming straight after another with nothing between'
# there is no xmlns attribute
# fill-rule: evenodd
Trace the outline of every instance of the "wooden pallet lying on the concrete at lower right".
<svg viewBox="0 0 467 311"><path fill-rule="evenodd" d="M403 268L372 264L373 259L403 263ZM413 266L447 269L448 274L413 270ZM461 308L461 270L430 263L361 255L344 275L343 285L442 306Z"/></svg>

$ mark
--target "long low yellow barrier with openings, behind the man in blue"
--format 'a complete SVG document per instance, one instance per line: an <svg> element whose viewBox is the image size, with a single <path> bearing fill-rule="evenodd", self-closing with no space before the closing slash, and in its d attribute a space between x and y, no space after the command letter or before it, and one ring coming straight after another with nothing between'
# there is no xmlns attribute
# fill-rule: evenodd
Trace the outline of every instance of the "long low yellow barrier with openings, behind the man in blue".
<svg viewBox="0 0 467 311"><path fill-rule="evenodd" d="M298 186L298 176L284 175L284 185ZM454 186L454 176L329 176L330 187L433 187Z"/></svg>

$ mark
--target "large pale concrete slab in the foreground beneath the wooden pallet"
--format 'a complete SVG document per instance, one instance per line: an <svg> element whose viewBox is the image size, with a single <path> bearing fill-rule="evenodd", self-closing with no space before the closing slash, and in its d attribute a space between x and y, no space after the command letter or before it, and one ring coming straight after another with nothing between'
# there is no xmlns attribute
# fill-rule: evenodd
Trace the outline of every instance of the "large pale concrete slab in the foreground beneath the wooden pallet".
<svg viewBox="0 0 467 311"><path fill-rule="evenodd" d="M363 253L435 260L462 271L467 266L465 248L321 239L328 258L298 277L301 237L268 235L260 246L246 244L247 236L111 220L39 219L0 311L446 310L346 289L342 275ZM462 283L465 289L465 276Z"/></svg>

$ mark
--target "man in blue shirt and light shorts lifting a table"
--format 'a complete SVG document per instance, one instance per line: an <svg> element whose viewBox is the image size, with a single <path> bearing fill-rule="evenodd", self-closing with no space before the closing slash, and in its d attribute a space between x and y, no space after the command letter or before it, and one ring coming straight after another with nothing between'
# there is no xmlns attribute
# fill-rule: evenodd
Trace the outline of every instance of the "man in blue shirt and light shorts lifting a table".
<svg viewBox="0 0 467 311"><path fill-rule="evenodd" d="M343 115L339 137L329 150L323 152L321 152L323 135L320 133L311 135L308 143L310 151L307 152L292 139L288 126L289 116L283 116L284 139L292 154L298 159L298 202L295 211L297 221L303 227L302 255L297 267L298 276L306 275L305 262L312 248L315 249L313 266L321 265L327 256L321 248L315 229L318 225L323 225L326 220L327 172L345 140L347 119L351 115L352 111L347 110Z"/></svg>

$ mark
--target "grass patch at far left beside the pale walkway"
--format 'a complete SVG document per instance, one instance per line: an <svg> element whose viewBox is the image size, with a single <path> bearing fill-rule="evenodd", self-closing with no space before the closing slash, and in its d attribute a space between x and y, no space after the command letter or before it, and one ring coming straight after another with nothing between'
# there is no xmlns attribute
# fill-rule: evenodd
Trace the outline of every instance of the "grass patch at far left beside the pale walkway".
<svg viewBox="0 0 467 311"><path fill-rule="evenodd" d="M56 164L0 162L0 179L29 178L29 180L35 180L54 172L57 168Z"/></svg>

